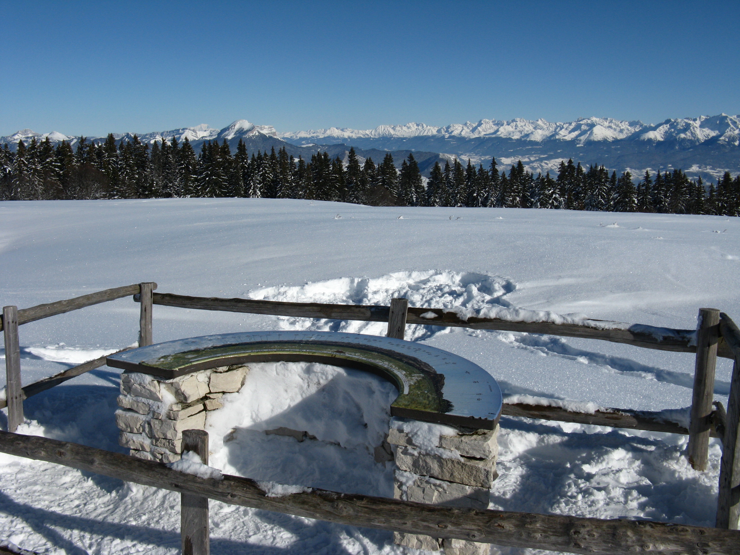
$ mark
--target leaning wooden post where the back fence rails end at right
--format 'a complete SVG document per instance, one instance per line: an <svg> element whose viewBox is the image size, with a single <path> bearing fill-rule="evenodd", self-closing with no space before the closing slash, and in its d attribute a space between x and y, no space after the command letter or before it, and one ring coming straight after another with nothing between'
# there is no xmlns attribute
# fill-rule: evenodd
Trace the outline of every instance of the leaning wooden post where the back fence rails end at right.
<svg viewBox="0 0 740 555"><path fill-rule="evenodd" d="M699 309L696 326L696 367L694 369L691 424L687 454L694 470L707 469L712 401L714 400L714 371L717 366L719 339L719 310Z"/></svg>

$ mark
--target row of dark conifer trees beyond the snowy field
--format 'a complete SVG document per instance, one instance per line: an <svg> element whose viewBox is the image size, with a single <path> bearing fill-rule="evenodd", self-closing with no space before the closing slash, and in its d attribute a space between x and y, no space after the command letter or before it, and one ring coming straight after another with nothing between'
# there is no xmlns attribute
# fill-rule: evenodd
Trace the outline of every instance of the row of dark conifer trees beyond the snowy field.
<svg viewBox="0 0 740 555"><path fill-rule="evenodd" d="M49 139L19 141L16 152L0 149L0 200L103 198L248 197L305 198L374 206L471 206L549 208L608 212L740 215L740 175L729 172L707 188L680 169L637 176L561 162L556 176L533 175L522 161L499 172L468 161L434 165L422 177L413 154L396 168L391 153L363 163L354 148L346 161L326 152L310 160L275 152L252 152L243 141L232 153L226 141L203 144L196 154L182 144L139 141L116 144L113 135L73 149Z"/></svg>

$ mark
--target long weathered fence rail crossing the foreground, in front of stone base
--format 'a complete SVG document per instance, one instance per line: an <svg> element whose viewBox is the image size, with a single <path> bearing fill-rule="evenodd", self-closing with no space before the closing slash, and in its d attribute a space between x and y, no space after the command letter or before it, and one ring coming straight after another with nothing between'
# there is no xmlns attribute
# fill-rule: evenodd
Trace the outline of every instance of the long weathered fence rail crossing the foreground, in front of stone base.
<svg viewBox="0 0 740 555"><path fill-rule="evenodd" d="M719 528L628 519L477 511L319 489L284 497L266 497L257 482L248 478L229 475L224 475L223 480L201 478L172 470L161 462L4 431L0 431L0 451L127 482L209 497L230 505L407 534L591 555L631 555L643 551L665 555L735 555L740 552L740 532Z"/></svg>

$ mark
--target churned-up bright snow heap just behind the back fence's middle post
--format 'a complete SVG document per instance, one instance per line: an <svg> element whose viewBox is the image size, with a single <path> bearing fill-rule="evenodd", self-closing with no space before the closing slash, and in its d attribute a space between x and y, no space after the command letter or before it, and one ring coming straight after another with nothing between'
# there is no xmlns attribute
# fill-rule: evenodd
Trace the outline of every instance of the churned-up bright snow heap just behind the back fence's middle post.
<svg viewBox="0 0 740 555"><path fill-rule="evenodd" d="M482 310L509 308L505 296L516 284L495 275L452 270L393 272L380 277L340 277L305 283L302 286L275 286L247 292L249 299L280 300L292 303L366 304L388 306L393 298L408 299L408 306L430 309ZM471 313L469 312L469 313ZM347 332L385 335L384 322L309 320L280 317L282 329ZM406 339L421 340L439 332L439 326L407 326Z"/></svg>

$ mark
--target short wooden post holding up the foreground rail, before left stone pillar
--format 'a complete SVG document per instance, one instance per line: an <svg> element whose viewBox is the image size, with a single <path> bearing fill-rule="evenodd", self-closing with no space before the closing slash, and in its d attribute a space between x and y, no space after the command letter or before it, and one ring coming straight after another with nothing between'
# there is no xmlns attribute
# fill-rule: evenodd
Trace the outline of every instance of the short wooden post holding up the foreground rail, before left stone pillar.
<svg viewBox="0 0 740 555"><path fill-rule="evenodd" d="M208 464L208 432L184 430L181 452L192 451ZM210 531L208 497L180 494L180 535L182 555L209 555Z"/></svg>

